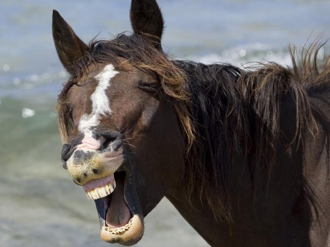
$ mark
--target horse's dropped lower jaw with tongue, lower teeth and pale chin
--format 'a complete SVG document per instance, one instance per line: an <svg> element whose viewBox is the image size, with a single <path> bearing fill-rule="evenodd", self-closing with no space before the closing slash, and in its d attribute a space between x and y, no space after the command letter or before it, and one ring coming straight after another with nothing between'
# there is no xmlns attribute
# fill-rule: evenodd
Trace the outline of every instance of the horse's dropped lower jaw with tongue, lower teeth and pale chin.
<svg viewBox="0 0 330 247"><path fill-rule="evenodd" d="M130 193L134 185L125 172L116 172L116 189L106 197L96 199L100 219L101 238L109 243L133 245L140 241L144 232L144 218L136 195Z"/></svg>

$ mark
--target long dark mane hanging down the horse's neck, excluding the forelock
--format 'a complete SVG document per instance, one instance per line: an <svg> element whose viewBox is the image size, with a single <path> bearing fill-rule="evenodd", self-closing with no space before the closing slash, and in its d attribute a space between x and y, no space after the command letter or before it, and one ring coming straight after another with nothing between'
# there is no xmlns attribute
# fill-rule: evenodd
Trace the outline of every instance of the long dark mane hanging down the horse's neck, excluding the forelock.
<svg viewBox="0 0 330 247"><path fill-rule="evenodd" d="M229 179L234 164L249 165L252 183L262 169L268 169L270 179L282 134L285 99L294 107L294 132L281 145L296 150L303 146L306 132L312 136L318 132L313 113L319 110L310 98L326 94L329 99L330 56L317 59L324 45L313 43L304 48L301 60L295 55L296 48L289 47L292 67L275 62L243 69L230 64L175 62L188 77L188 107L195 131L184 184L188 196L199 193L218 219L229 224L232 221ZM323 120L325 131L330 133L329 119ZM326 142L329 145L328 134Z"/></svg>

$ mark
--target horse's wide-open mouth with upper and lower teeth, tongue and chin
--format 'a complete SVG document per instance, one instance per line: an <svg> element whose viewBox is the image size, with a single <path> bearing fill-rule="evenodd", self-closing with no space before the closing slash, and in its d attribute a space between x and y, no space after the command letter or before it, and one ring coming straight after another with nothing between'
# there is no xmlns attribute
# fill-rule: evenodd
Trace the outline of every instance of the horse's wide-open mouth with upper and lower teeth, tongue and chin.
<svg viewBox="0 0 330 247"><path fill-rule="evenodd" d="M125 172L96 179L83 186L86 196L95 201L100 219L101 238L110 243L132 245L143 235L143 217L133 200L127 200ZM129 193L128 193L129 194Z"/></svg>

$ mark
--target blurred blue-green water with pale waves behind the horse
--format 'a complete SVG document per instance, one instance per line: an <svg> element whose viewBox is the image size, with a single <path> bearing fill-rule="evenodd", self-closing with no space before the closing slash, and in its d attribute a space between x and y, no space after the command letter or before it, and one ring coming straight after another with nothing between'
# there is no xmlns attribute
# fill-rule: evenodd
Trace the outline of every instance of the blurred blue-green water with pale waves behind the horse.
<svg viewBox="0 0 330 247"><path fill-rule="evenodd" d="M328 0L158 0L164 50L204 63L290 64L287 45L330 37ZM55 104L68 74L51 36L56 9L86 42L130 31L129 0L0 1L0 246L109 246L94 203L61 169ZM321 58L320 58L321 59ZM207 246L163 199L137 246Z"/></svg>

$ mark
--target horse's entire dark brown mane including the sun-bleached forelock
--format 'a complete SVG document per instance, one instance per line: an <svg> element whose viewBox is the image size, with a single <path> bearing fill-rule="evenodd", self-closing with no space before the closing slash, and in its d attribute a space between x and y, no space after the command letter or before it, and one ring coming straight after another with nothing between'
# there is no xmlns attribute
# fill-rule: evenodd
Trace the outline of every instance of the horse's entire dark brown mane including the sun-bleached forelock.
<svg viewBox="0 0 330 247"><path fill-rule="evenodd" d="M122 33L110 41L93 39L58 97L62 140L67 141L73 130L67 92L78 82L81 84L91 64L111 63L117 70L125 70L128 62L156 74L162 93L173 103L186 139L183 186L187 197L198 193L218 219L230 222L230 168L238 157L243 157L251 164L252 177L264 164L271 175L283 99L290 98L295 107L295 130L288 145L298 147L306 130L317 130L309 97L330 92L330 57L324 56L323 62L317 60L323 46L312 44L301 61L296 59L296 49L290 49L292 67L270 62L241 69L230 64L173 61L145 35Z"/></svg>

